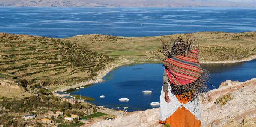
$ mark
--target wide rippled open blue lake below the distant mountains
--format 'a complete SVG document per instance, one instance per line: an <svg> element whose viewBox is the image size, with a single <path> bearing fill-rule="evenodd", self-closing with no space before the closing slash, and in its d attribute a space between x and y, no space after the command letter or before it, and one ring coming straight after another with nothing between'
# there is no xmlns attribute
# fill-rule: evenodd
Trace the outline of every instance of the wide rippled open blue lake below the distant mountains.
<svg viewBox="0 0 256 127"><path fill-rule="evenodd" d="M1 7L0 32L64 38L77 34L158 36L256 31L256 8Z"/></svg>

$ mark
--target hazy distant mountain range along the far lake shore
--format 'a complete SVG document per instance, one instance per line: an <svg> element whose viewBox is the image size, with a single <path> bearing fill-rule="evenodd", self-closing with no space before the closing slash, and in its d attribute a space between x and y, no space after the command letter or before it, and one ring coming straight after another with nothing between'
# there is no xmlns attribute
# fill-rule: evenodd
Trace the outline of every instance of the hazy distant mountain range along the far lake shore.
<svg viewBox="0 0 256 127"><path fill-rule="evenodd" d="M256 0L0 0L0 7L256 7Z"/></svg>

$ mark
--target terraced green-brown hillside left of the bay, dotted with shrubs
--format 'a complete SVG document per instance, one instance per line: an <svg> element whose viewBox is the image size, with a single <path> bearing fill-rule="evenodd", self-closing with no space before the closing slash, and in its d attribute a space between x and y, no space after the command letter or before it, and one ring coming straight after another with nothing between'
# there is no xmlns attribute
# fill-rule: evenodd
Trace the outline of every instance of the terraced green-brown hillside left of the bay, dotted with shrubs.
<svg viewBox="0 0 256 127"><path fill-rule="evenodd" d="M75 42L6 33L0 33L0 56L0 78L26 79L30 88L90 80L113 60Z"/></svg>

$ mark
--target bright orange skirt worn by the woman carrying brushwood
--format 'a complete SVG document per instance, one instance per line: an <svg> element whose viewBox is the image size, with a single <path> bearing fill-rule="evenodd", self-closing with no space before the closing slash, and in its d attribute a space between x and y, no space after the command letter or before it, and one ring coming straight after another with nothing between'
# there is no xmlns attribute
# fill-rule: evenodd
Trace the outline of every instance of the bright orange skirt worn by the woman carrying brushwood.
<svg viewBox="0 0 256 127"><path fill-rule="evenodd" d="M182 98L182 95L175 95L176 98L183 104L190 101L187 98ZM165 121L159 120L159 123L169 124L170 127L200 127L201 122L197 120L189 110L184 108L178 108L174 114L169 116Z"/></svg>

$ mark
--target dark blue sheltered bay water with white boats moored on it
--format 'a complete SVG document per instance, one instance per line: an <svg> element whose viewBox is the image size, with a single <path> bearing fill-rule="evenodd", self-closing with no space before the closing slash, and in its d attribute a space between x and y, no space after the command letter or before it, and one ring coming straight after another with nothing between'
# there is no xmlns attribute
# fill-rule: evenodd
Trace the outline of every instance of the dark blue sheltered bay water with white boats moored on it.
<svg viewBox="0 0 256 127"><path fill-rule="evenodd" d="M218 88L225 80L246 81L256 77L256 59L243 63L229 64L202 64L202 67L211 70L211 84ZM129 107L128 111L145 110L155 108L150 102L160 99L162 88L162 64L138 64L122 66L109 72L105 82L94 84L88 88L79 89L72 94L84 95L96 98L92 103L104 105L108 108ZM214 87L209 85L210 89ZM152 94L143 94L142 91L151 90ZM105 98L100 98L105 95ZM122 97L129 98L129 102L119 102ZM120 108L123 109L123 108Z"/></svg>

